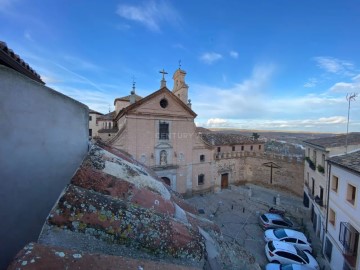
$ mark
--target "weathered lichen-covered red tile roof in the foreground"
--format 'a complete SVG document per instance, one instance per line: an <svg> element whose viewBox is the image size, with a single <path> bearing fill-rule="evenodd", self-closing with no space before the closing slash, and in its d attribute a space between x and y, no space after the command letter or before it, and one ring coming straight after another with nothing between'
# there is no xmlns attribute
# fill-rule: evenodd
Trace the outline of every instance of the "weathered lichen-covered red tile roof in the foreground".
<svg viewBox="0 0 360 270"><path fill-rule="evenodd" d="M159 269L202 268L207 244L200 228L211 235L218 235L220 230L196 214L196 209L163 184L152 170L121 150L98 144L91 148L51 210L39 236L40 246L31 250L38 247L41 251L43 245L48 246L41 252L57 260L59 265L52 269L64 269L72 264L71 259L76 261L82 256L89 259L89 253L102 254L93 255L96 257L89 261L102 262L102 257L114 265L122 258L104 255L135 258L139 265L143 260L160 259L179 265ZM10 269L24 261L31 266L32 260L36 269L48 266L48 260L38 260L43 258L41 255L31 257L29 250L20 252ZM116 269L113 264L107 269ZM130 269L128 265L130 262L122 269Z"/></svg>

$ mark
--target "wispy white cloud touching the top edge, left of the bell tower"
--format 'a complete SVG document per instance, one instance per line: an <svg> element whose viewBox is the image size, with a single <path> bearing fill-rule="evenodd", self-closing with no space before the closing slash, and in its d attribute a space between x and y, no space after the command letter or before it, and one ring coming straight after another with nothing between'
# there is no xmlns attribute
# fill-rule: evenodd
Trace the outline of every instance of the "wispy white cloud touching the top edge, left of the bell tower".
<svg viewBox="0 0 360 270"><path fill-rule="evenodd" d="M138 6L120 4L116 14L124 19L138 22L154 32L160 31L162 21L172 24L180 21L178 12L167 1L145 1Z"/></svg>

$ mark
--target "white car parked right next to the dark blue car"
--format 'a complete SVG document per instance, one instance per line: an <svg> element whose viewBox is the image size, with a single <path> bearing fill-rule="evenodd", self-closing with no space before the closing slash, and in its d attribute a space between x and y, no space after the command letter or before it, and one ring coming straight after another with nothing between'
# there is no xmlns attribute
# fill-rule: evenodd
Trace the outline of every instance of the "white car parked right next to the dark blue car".
<svg viewBox="0 0 360 270"><path fill-rule="evenodd" d="M312 247L305 234L291 229L270 229L264 232L264 239L269 241L282 241L296 246L303 251L312 252Z"/></svg>

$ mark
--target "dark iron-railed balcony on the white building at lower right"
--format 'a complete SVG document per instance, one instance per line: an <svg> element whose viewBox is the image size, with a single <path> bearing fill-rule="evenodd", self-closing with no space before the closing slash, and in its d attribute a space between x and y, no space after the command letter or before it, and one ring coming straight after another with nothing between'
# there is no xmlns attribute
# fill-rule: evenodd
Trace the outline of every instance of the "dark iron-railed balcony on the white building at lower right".
<svg viewBox="0 0 360 270"><path fill-rule="evenodd" d="M347 264L354 268L359 245L359 232L349 222L340 222L339 241L343 245L343 256Z"/></svg>

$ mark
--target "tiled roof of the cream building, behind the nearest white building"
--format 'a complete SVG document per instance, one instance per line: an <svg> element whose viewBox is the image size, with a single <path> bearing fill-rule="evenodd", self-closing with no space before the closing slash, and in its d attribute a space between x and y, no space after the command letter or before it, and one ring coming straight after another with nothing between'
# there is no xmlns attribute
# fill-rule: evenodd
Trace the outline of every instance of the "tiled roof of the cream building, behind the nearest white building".
<svg viewBox="0 0 360 270"><path fill-rule="evenodd" d="M346 145L346 134L324 137L304 141L306 144L312 144L322 148L339 147ZM360 144L360 132L352 132L348 135L348 145Z"/></svg>

